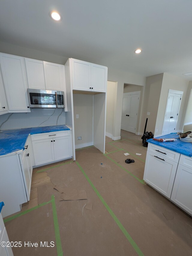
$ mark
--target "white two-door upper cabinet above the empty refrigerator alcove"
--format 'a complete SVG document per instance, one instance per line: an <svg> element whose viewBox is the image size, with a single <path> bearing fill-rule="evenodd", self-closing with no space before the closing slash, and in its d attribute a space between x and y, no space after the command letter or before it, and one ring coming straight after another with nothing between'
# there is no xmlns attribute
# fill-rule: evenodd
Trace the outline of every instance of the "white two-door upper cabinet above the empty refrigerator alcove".
<svg viewBox="0 0 192 256"><path fill-rule="evenodd" d="M73 90L106 92L107 67L71 58Z"/></svg>

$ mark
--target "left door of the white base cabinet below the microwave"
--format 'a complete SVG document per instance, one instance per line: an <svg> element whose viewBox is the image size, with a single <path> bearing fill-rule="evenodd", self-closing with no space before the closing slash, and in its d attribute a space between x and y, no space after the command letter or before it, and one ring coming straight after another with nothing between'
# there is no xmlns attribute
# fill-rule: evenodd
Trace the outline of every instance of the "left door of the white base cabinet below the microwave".
<svg viewBox="0 0 192 256"><path fill-rule="evenodd" d="M52 138L33 141L32 145L36 166L55 161Z"/></svg>

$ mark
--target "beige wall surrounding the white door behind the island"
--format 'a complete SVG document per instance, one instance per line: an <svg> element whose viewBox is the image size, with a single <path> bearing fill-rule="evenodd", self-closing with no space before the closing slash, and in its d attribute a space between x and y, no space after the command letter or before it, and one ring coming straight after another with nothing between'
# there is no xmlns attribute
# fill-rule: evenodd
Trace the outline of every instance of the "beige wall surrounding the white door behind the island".
<svg viewBox="0 0 192 256"><path fill-rule="evenodd" d="M178 115L176 130L183 129L183 123L184 123L183 115L185 116L185 113L186 113L186 110L184 109L184 105L186 100L185 98L187 94L188 83L189 82L187 80L184 80L178 76L173 76L169 73L164 73L162 88L161 88L161 96L159 100L157 121L155 125L155 133L154 133L155 136L161 135L162 133L169 89L183 91L182 102L181 102L180 111ZM158 132L156 132L156 130L158 130Z"/></svg>

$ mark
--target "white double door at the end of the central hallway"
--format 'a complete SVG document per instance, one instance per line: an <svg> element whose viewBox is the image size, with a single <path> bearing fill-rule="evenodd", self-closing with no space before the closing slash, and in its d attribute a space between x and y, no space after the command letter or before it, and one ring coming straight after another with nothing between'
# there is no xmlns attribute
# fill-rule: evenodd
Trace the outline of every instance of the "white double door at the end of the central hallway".
<svg viewBox="0 0 192 256"><path fill-rule="evenodd" d="M123 95L121 129L135 133L139 110L140 92L129 92Z"/></svg>

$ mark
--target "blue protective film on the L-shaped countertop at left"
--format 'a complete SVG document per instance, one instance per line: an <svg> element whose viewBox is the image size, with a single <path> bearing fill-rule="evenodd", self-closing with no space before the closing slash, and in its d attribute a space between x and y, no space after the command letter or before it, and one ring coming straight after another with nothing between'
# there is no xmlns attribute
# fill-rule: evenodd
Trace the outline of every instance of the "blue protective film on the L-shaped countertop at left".
<svg viewBox="0 0 192 256"><path fill-rule="evenodd" d="M3 130L0 132L0 155L6 155L24 148L29 134L70 130L66 125L44 126Z"/></svg>

